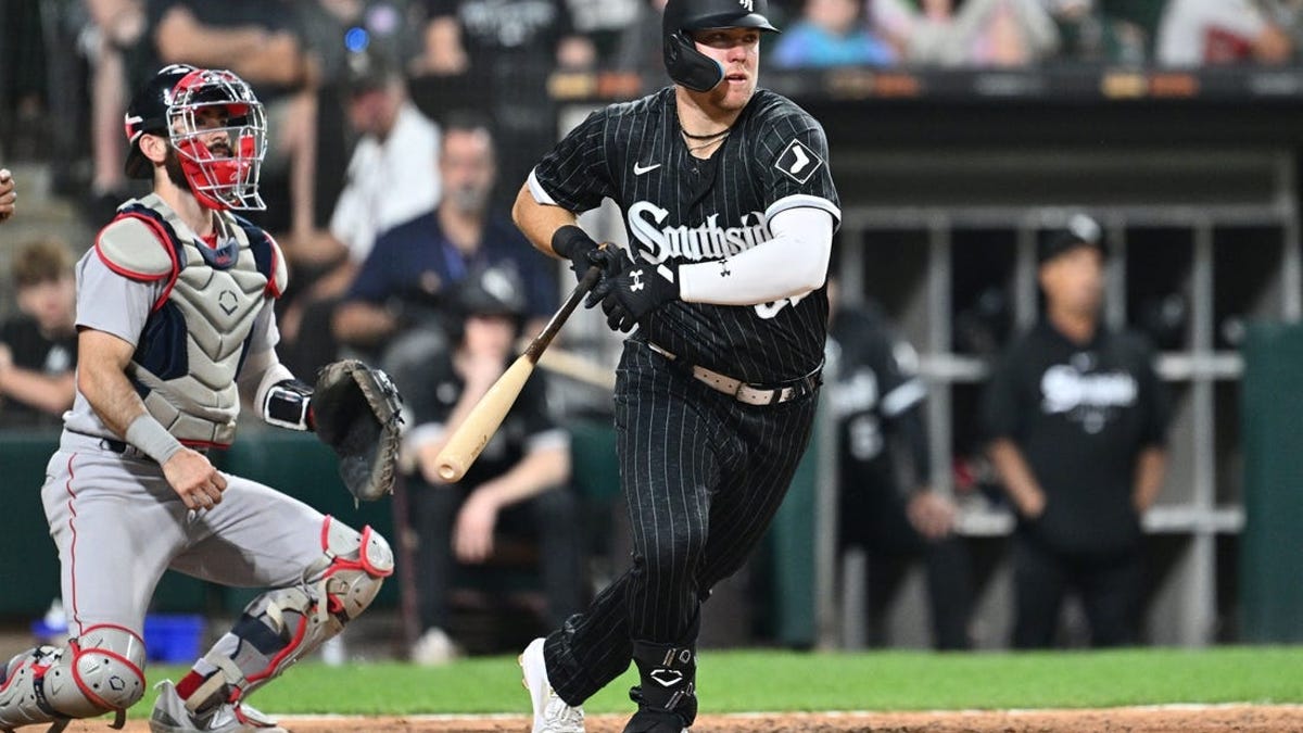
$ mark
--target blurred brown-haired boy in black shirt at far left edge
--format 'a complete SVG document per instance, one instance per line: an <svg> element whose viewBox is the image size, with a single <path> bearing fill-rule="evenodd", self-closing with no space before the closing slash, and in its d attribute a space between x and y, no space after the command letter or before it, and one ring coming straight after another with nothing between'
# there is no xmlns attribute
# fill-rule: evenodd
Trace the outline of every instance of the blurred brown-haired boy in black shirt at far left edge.
<svg viewBox="0 0 1303 733"><path fill-rule="evenodd" d="M72 252L48 239L23 247L13 282L21 316L0 326L0 425L57 428L77 366Z"/></svg>

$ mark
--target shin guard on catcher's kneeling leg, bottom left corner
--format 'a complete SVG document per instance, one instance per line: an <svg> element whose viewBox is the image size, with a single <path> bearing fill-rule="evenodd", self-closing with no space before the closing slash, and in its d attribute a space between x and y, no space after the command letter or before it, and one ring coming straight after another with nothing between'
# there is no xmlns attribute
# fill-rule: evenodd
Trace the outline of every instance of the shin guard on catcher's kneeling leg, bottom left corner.
<svg viewBox="0 0 1303 733"><path fill-rule="evenodd" d="M145 695L145 642L121 626L93 626L66 647L13 657L0 683L0 729L95 717Z"/></svg>

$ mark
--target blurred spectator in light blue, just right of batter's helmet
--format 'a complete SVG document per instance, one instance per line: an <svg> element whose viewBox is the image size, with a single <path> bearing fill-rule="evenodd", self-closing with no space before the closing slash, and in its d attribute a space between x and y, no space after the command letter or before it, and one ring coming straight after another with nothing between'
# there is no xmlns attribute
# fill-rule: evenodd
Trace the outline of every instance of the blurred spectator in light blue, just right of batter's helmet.
<svg viewBox="0 0 1303 733"><path fill-rule="evenodd" d="M863 0L805 0L805 12L774 46L778 68L886 67L895 51L869 33Z"/></svg>

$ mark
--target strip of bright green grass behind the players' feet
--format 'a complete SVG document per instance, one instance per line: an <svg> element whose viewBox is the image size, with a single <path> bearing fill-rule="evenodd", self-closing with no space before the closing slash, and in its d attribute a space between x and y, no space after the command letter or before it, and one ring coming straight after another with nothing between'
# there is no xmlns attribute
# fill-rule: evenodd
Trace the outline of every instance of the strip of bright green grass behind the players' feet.
<svg viewBox="0 0 1303 733"><path fill-rule="evenodd" d="M1035 653L713 651L697 676L702 711L964 710L1161 703L1303 703L1303 647ZM151 666L150 682L185 669ZM632 670L585 708L631 710ZM152 690L132 708L149 715ZM304 663L253 703L275 713L526 712L515 657L444 668Z"/></svg>

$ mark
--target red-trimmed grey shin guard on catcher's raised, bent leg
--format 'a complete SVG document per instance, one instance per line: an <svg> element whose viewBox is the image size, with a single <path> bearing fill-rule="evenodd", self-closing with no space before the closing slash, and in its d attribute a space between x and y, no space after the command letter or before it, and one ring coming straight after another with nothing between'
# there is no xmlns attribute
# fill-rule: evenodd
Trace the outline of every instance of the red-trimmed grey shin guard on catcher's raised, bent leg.
<svg viewBox="0 0 1303 733"><path fill-rule="evenodd" d="M370 527L361 532L327 516L322 558L304 584L268 591L249 604L225 638L205 656L220 672L186 700L192 711L235 702L298 661L375 599L394 573L394 552Z"/></svg>

